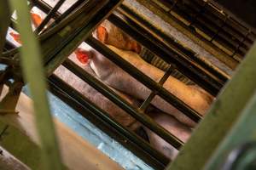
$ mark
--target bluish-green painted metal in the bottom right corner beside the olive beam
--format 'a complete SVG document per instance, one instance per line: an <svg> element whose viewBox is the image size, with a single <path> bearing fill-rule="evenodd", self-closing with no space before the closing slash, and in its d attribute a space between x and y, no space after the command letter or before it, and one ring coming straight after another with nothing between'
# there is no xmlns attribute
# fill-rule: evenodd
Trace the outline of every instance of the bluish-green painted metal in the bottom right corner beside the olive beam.
<svg viewBox="0 0 256 170"><path fill-rule="evenodd" d="M256 56L256 55L255 55ZM215 151L212 156L211 161L207 164L205 169L208 170L218 170L222 166L223 161L226 161L230 150L233 150L240 144L246 144L256 141L256 94L253 95L253 98L247 104L247 107L241 112L239 121L236 122L236 125L232 127L229 135L224 139L224 141L218 146L218 150ZM239 167L247 167L248 161L256 159L255 147L252 148L254 151L250 151L250 154L247 153L247 156L243 156L240 163L237 165ZM236 169L245 169L245 168L236 168Z"/></svg>

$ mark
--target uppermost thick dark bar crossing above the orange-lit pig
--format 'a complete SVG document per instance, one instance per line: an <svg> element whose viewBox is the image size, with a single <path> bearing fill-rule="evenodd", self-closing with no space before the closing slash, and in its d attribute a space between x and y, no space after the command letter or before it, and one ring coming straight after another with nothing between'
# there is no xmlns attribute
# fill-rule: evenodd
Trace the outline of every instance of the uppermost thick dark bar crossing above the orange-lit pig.
<svg viewBox="0 0 256 170"><path fill-rule="evenodd" d="M191 59L189 59L181 51L175 48L168 47L165 43L151 35L148 30L142 26L137 25L132 20L122 20L117 15L112 14L108 18L114 25L119 26L122 30L126 31L131 37L137 39L148 49L164 59L167 63L177 65L177 70L189 77L193 82L199 84L210 94L216 96L220 88L222 88L224 81L213 78L206 73L205 70L198 67ZM194 57L195 58L195 57Z"/></svg>

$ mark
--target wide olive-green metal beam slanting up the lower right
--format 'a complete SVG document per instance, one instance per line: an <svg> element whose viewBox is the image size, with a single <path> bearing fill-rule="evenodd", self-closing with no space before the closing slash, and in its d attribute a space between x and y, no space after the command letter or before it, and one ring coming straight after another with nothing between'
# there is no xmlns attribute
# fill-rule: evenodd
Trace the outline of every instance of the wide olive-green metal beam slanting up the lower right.
<svg viewBox="0 0 256 170"><path fill-rule="evenodd" d="M229 133L256 88L256 44L228 82L177 159L167 169L200 170ZM198 147L196 147L198 146ZM193 165L193 166L192 166Z"/></svg>

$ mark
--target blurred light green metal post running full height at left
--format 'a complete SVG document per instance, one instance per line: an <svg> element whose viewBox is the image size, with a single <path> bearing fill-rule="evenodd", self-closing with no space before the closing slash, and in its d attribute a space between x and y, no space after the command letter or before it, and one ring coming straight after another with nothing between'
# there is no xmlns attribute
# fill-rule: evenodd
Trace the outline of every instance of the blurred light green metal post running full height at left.
<svg viewBox="0 0 256 170"><path fill-rule="evenodd" d="M28 6L26 0L10 0L9 2L17 12L18 28L22 40L22 48L20 48L21 65L32 94L36 125L42 146L44 169L61 170L63 169L61 156L55 139L55 128L45 91L43 58L38 41L32 33Z"/></svg>

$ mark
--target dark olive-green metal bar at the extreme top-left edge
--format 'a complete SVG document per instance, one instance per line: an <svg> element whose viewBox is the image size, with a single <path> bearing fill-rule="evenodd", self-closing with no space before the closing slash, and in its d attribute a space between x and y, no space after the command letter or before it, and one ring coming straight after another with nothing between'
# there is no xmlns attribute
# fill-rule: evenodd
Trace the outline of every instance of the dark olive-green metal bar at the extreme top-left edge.
<svg viewBox="0 0 256 170"><path fill-rule="evenodd" d="M6 32L10 23L10 10L7 0L0 1L0 57L3 53Z"/></svg>

